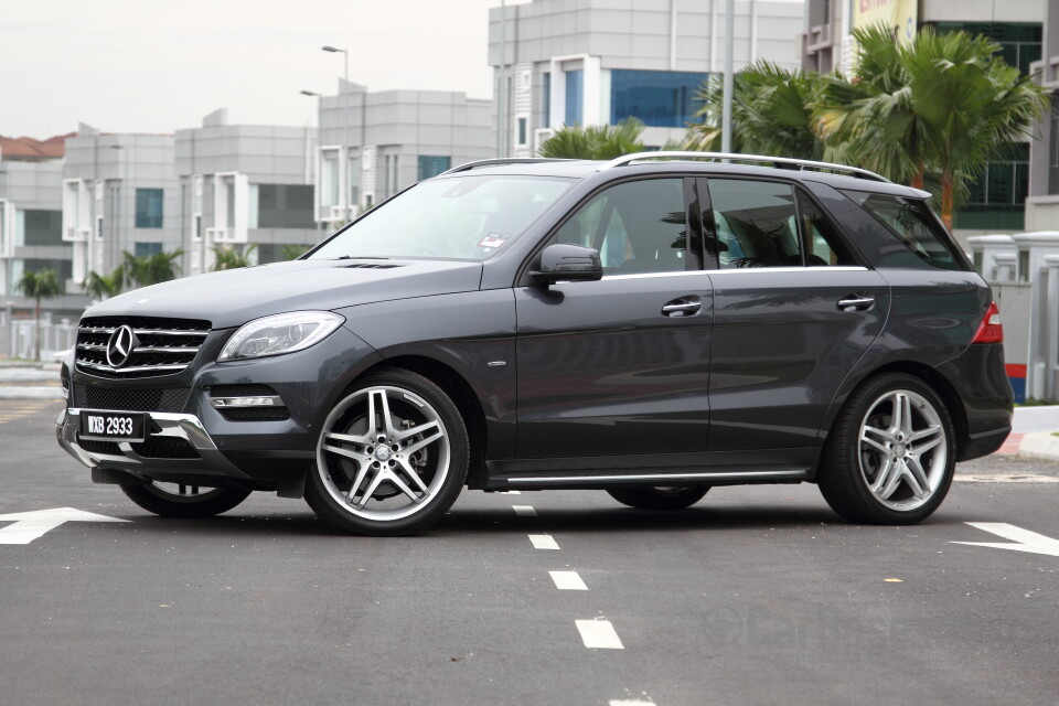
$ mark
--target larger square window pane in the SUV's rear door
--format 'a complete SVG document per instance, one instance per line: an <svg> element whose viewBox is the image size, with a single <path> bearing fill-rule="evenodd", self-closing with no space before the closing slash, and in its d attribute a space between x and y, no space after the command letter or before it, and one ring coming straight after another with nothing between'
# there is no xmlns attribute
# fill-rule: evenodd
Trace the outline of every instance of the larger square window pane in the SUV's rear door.
<svg viewBox="0 0 1059 706"><path fill-rule="evenodd" d="M721 269L802 265L790 184L710 179L709 199Z"/></svg>

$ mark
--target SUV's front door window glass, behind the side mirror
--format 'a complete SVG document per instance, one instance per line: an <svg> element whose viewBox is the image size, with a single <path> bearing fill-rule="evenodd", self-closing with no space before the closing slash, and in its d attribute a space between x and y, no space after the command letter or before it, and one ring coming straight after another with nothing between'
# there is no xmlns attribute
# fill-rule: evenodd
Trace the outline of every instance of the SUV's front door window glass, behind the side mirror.
<svg viewBox="0 0 1059 706"><path fill-rule="evenodd" d="M633 181L599 193L559 229L557 242L595 247L613 275L686 269L683 179Z"/></svg>

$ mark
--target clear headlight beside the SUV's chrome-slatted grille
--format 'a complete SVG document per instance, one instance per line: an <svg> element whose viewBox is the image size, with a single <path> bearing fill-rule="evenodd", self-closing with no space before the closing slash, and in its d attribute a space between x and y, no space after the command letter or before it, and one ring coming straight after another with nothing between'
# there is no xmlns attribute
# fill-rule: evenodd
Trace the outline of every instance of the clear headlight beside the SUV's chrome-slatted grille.
<svg viewBox="0 0 1059 706"><path fill-rule="evenodd" d="M217 362L301 351L319 343L343 323L345 319L330 311L295 311L257 319L228 339Z"/></svg>

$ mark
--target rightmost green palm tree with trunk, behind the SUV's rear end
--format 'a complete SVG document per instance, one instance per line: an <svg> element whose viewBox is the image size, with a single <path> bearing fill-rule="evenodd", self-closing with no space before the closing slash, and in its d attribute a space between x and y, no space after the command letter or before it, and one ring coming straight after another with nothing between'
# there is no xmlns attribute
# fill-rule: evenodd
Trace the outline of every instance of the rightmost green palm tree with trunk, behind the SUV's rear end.
<svg viewBox="0 0 1059 706"><path fill-rule="evenodd" d="M941 217L952 229L954 190L976 179L998 151L1025 141L1047 94L998 55L999 45L966 32L927 28L906 52L912 105L928 162L941 172Z"/></svg>

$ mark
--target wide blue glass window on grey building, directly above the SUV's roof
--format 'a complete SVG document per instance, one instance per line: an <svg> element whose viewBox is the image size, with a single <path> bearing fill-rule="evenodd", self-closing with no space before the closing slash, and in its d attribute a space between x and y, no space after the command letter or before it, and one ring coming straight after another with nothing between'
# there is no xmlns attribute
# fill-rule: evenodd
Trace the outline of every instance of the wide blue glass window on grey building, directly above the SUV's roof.
<svg viewBox="0 0 1059 706"><path fill-rule="evenodd" d="M656 128L683 128L695 113L695 92L709 74L691 71L610 72L610 124L640 118Z"/></svg>

